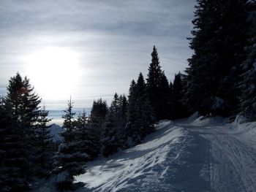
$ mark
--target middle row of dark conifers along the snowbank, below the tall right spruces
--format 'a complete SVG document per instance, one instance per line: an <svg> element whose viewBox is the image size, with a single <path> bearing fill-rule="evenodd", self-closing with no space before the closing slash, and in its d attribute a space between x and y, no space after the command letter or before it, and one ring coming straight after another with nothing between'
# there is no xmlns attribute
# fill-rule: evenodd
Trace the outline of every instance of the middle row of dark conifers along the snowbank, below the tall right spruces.
<svg viewBox="0 0 256 192"><path fill-rule="evenodd" d="M157 120L187 115L181 102L183 75L176 74L173 84L168 82L156 47L151 56L148 78L145 80L140 73L138 80L132 80L128 97L115 93L110 107L106 101L98 99L93 102L89 117L83 112L74 118L73 103L69 100L63 116L64 141L56 153L54 170L59 188L70 188L74 176L85 172L86 161L138 145L154 131Z"/></svg>

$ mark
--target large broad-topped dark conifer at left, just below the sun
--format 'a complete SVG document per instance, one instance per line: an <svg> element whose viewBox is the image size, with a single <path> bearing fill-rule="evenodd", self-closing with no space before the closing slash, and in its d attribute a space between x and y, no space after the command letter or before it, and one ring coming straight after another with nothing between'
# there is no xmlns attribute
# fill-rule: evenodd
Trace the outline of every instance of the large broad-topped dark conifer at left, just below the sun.
<svg viewBox="0 0 256 192"><path fill-rule="evenodd" d="M20 74L10 78L7 96L4 97L4 122L1 128L4 169L1 174L5 178L3 190L24 191L34 173L35 128L39 118L41 99L33 92L29 79Z"/></svg>

